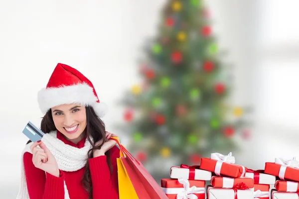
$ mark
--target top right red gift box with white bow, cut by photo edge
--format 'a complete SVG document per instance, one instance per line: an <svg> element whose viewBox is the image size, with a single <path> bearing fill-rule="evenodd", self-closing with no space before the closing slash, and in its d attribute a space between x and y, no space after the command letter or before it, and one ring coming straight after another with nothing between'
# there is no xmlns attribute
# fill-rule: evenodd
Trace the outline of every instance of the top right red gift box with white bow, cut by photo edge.
<svg viewBox="0 0 299 199"><path fill-rule="evenodd" d="M281 180L299 181L299 162L275 158L275 163L266 162L265 173L278 176Z"/></svg>

